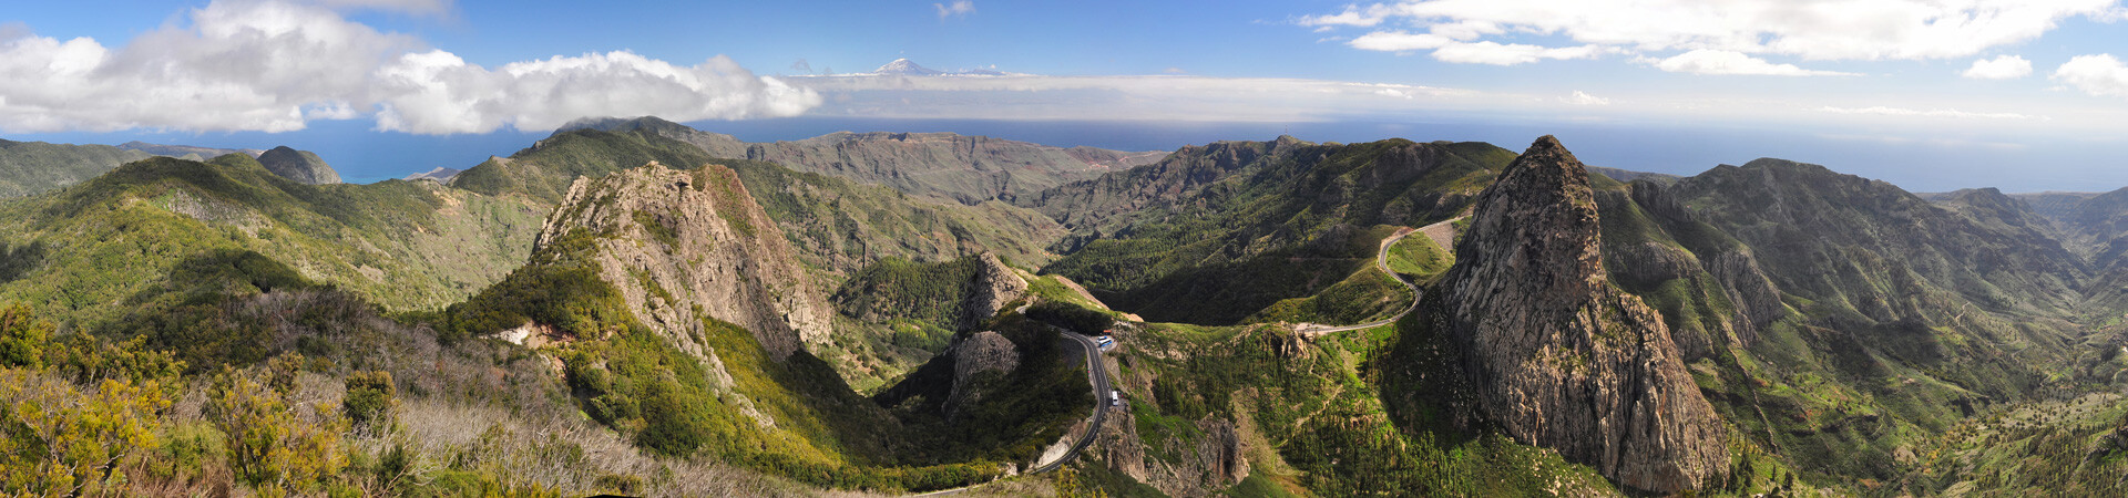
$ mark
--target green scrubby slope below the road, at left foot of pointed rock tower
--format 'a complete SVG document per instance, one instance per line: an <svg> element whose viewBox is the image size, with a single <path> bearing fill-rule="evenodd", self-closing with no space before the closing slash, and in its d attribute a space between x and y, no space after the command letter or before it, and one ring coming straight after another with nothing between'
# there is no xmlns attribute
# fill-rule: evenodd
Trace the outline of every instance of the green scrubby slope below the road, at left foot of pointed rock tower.
<svg viewBox="0 0 2128 498"><path fill-rule="evenodd" d="M1281 328L1149 323L1119 338L1130 349L1115 353L1126 366L1117 385L1147 460L1187 462L1211 436L1202 419L1251 424L1243 438L1262 436L1275 453L1247 455L1251 479L1234 483L1234 496L1283 496L1287 485L1319 496L1615 494L1553 451L1407 417L1407 385L1385 377L1404 362L1387 347L1409 323L1298 347Z"/></svg>

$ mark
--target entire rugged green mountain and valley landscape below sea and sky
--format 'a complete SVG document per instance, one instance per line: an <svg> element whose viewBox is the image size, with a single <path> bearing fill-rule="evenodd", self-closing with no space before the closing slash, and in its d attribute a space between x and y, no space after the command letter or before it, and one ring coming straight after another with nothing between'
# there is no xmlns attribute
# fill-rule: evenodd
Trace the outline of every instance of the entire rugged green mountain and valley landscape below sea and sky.
<svg viewBox="0 0 2128 498"><path fill-rule="evenodd" d="M0 183L36 185L0 202L6 489L2128 485L2119 192L1636 175L1551 136L1153 157L585 119L379 183L40 147L0 157L121 164Z"/></svg>

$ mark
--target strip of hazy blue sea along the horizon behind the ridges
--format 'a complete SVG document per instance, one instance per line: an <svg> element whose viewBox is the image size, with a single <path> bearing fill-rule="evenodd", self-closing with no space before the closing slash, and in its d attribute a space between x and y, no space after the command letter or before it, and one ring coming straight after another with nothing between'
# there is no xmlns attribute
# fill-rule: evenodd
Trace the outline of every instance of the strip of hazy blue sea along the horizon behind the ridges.
<svg viewBox="0 0 2128 498"><path fill-rule="evenodd" d="M547 132L496 130L487 134L375 134L368 121L317 121L298 132L117 132L117 134L13 134L9 140L47 143L168 143L226 149L289 145L317 151L347 181L398 179L430 168L472 168L487 155L511 155ZM958 132L1055 147L1119 151L1173 151L1215 140L1270 140L1292 134L1311 143L1481 140L1519 149L1543 134L1560 136L1592 166L1698 175L1717 164L1781 157L1824 164L1841 172L1890 181L1909 192L1998 187L2002 192L2111 192L2128 185L2128 168L2094 168L2111 160L2107 147L2045 136L2017 143L1879 138L1866 132L1766 130L1698 123L1560 123L1485 121L1436 115L1368 121L1207 123L1207 121L1015 121L1015 119L866 119L781 117L745 121L689 121L698 130L747 143L802 140L830 132ZM1749 153L1736 153L1749 151Z"/></svg>

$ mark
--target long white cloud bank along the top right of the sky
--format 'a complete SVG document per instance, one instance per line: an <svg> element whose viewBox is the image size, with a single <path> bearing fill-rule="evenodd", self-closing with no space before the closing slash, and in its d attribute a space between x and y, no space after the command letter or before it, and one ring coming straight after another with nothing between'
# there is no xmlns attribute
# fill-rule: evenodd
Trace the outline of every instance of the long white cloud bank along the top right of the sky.
<svg viewBox="0 0 2128 498"><path fill-rule="evenodd" d="M1943 60L2024 43L2071 17L2122 17L2117 0L1404 0L1298 17L1366 28L1349 45L1377 51L1556 36L1641 57L1690 51L1800 60ZM1473 30L1477 28L1477 30ZM1524 38L1526 43L1526 38Z"/></svg>

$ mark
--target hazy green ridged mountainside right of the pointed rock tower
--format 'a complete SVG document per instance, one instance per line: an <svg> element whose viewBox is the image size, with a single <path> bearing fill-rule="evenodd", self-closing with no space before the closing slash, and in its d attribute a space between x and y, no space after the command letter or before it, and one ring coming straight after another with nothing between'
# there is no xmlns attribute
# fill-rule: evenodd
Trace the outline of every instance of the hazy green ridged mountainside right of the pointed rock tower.
<svg viewBox="0 0 2128 498"><path fill-rule="evenodd" d="M1902 479L1951 424L2105 370L2083 368L2107 351L2077 323L2083 260L1994 189L1930 204L1758 160L1609 192L1605 266L1664 315L1724 419L1815 479Z"/></svg>

